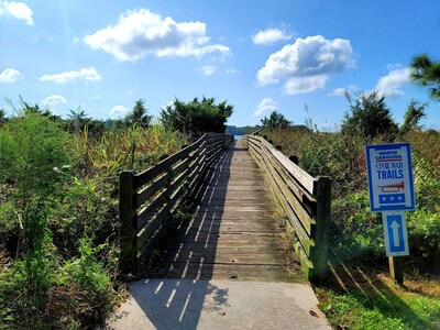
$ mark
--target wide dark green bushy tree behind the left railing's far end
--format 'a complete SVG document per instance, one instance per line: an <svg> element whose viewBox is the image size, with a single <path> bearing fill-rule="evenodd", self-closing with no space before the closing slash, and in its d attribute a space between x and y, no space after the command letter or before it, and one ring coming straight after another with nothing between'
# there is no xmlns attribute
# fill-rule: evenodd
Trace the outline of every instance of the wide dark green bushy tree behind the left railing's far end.
<svg viewBox="0 0 440 330"><path fill-rule="evenodd" d="M195 98L185 103L175 99L173 105L161 111L164 127L176 130L190 136L198 136L202 132L224 133L226 122L232 114L233 107L227 101L216 105L213 98Z"/></svg>

